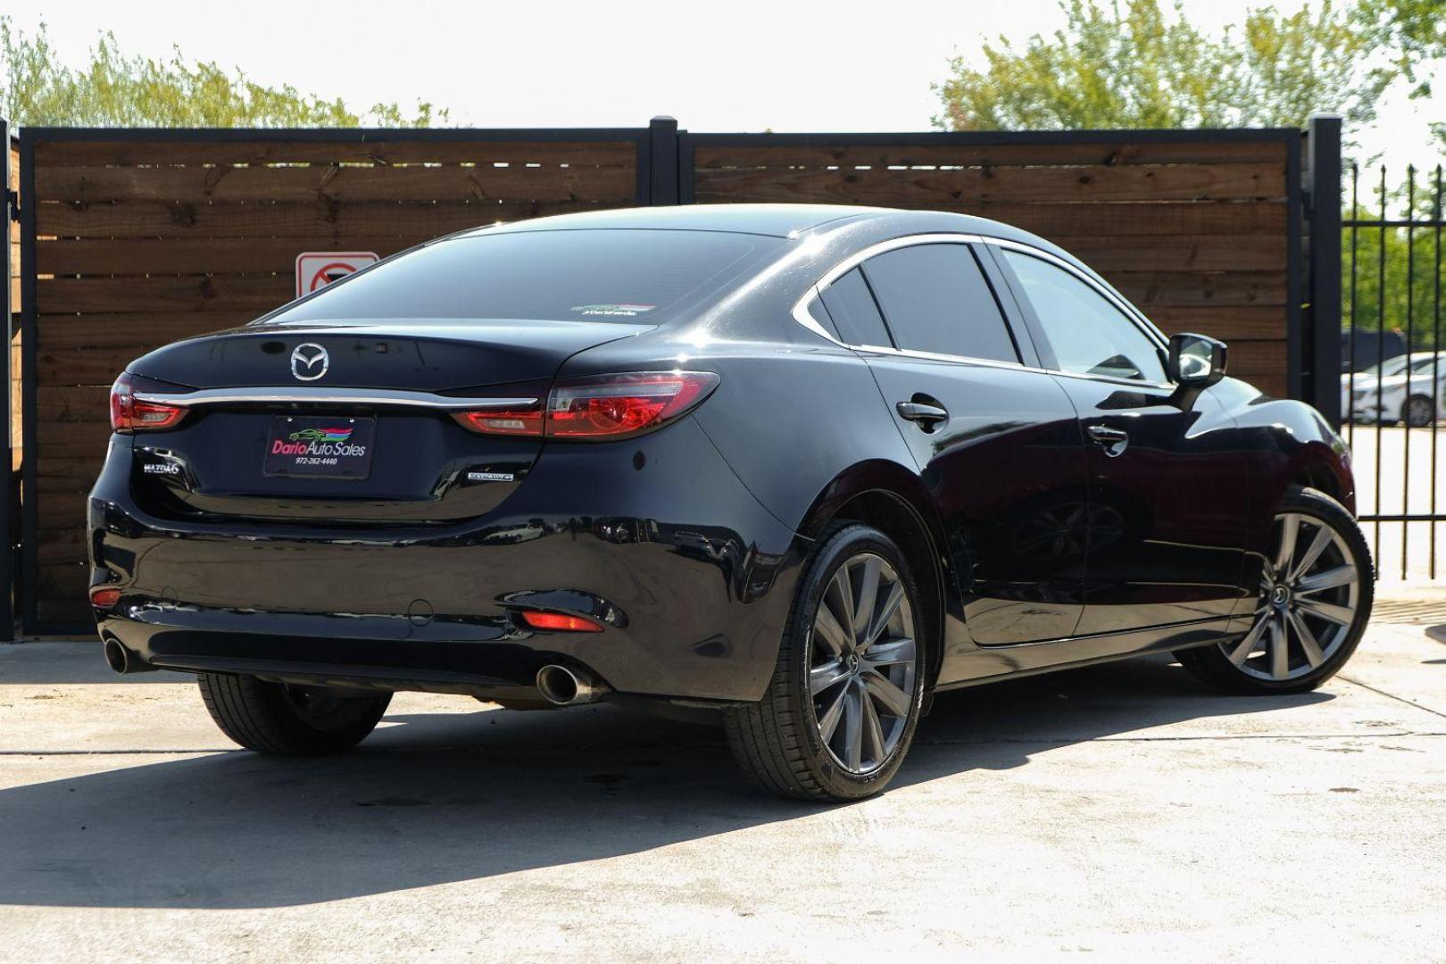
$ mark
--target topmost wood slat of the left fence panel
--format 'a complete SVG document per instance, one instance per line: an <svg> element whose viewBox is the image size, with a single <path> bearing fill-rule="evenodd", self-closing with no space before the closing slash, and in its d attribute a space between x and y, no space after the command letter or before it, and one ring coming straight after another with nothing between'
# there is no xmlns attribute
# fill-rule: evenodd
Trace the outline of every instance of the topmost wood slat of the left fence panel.
<svg viewBox="0 0 1446 964"><path fill-rule="evenodd" d="M635 140L42 140L38 166L547 163L633 168Z"/></svg>

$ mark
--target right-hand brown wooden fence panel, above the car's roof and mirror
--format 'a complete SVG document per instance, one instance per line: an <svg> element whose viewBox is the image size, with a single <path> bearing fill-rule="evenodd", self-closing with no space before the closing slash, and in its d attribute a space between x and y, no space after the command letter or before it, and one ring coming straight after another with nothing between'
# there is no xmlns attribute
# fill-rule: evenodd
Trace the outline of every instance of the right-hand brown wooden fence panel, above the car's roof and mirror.
<svg viewBox="0 0 1446 964"><path fill-rule="evenodd" d="M1167 332L1229 341L1232 373L1284 396L1299 132L1241 133L943 145L703 134L684 155L687 199L868 204L1006 221L1079 256Z"/></svg>

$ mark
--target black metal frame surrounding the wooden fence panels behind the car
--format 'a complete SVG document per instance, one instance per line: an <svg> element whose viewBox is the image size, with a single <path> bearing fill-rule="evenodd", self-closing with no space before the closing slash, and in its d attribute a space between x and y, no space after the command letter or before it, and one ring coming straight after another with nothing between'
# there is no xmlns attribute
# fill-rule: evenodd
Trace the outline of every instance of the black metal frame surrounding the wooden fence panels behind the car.
<svg viewBox="0 0 1446 964"><path fill-rule="evenodd" d="M0 137L4 121L0 120ZM928 133L703 133L680 130L671 117L654 117L646 127L623 129L67 129L30 127L20 137L20 273L22 312L22 464L20 494L20 587L14 608L20 610L25 633L39 632L36 614L39 556L38 491L38 312L36 312L36 212L26 198L35 197L35 152L51 140L84 142L461 142L461 140L629 140L638 146L636 204L672 205L694 202L694 152L706 145L833 145L833 146L1002 146L1002 145L1125 145L1186 143L1209 139L1216 143L1280 142L1287 147L1287 357L1288 395L1316 405L1339 423L1339 330L1340 330L1340 121L1317 116L1306 132L1264 130L1074 130L1074 132L928 132ZM9 159L9 156L7 156ZM1335 224L1336 230L1332 230ZM1307 233L1309 225L1309 233ZM1309 238L1309 243L1307 243ZM6 286L9 298L9 285ZM9 305L6 305L9 306ZM9 312L6 314L10 318ZM12 332L13 334L13 332ZM9 370L9 354L6 356ZM6 396L10 422L9 393ZM9 434L7 434L9 451ZM0 513L0 535L13 530L10 503ZM14 572L6 555L0 580L13 584ZM6 603L9 603L9 595ZM13 619L0 607L0 633L13 632ZM58 629L58 627L46 627Z"/></svg>

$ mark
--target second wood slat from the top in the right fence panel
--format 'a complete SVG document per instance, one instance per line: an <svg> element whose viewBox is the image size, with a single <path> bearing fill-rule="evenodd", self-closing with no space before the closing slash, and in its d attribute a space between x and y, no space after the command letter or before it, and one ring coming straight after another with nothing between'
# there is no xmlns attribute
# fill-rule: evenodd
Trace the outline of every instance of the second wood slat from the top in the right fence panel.
<svg viewBox="0 0 1446 964"><path fill-rule="evenodd" d="M977 201L1270 199L1285 194L1280 165L966 168L962 171L697 171L698 201L878 204L954 210Z"/></svg>

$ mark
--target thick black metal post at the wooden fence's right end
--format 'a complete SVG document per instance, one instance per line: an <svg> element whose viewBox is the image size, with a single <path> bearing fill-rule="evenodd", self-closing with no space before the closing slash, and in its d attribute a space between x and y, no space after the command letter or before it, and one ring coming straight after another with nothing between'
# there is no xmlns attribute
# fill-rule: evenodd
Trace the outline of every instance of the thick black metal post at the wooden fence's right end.
<svg viewBox="0 0 1446 964"><path fill-rule="evenodd" d="M1304 361L1310 382L1306 400L1340 425L1340 116L1312 114L1306 191L1310 192L1310 305ZM1352 332L1353 335L1355 332Z"/></svg>

